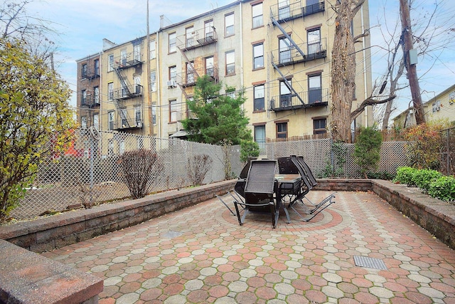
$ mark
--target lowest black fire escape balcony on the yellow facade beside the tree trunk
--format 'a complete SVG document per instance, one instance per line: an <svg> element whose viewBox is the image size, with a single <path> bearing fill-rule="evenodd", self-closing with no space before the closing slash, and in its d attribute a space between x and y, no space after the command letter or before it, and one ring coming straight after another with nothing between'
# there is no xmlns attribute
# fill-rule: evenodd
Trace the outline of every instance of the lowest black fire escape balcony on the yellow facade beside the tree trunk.
<svg viewBox="0 0 455 304"><path fill-rule="evenodd" d="M272 97L269 103L269 110L274 112L306 109L314 107L325 107L328 105L328 89L309 90L308 92L299 93L301 103L297 95L287 94Z"/></svg>

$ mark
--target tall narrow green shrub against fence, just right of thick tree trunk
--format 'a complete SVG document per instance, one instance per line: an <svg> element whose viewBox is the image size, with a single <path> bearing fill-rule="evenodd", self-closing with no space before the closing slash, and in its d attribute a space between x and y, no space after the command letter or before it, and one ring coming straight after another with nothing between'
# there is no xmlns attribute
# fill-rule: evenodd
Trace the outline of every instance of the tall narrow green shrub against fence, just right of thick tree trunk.
<svg viewBox="0 0 455 304"><path fill-rule="evenodd" d="M360 167L360 174L368 178L367 173L378 169L382 145L381 132L373 127L363 127L355 141L354 162Z"/></svg>

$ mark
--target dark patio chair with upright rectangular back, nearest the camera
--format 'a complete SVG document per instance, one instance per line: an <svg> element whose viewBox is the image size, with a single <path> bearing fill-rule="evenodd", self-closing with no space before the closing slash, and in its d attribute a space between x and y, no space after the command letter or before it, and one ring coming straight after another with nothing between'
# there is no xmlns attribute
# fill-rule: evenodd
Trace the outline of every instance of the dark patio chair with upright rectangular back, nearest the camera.
<svg viewBox="0 0 455 304"><path fill-rule="evenodd" d="M234 201L235 211L240 226L250 213L270 214L272 226L276 227L279 211L274 204L275 167L272 159L252 160L245 184L245 202ZM244 207L243 214L239 205Z"/></svg>

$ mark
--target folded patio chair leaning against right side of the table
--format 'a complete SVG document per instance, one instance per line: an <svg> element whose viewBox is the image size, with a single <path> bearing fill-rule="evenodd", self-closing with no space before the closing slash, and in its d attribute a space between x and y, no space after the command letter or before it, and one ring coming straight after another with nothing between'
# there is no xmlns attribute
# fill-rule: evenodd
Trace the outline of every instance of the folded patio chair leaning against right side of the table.
<svg viewBox="0 0 455 304"><path fill-rule="evenodd" d="M331 204L335 203L335 201L333 201L333 199L335 198L335 193L327 196L325 199L323 199L322 201L320 201L317 204L314 204L313 202L311 202L306 197L306 194L308 194L310 192L310 190L313 189L313 184L311 183L311 179L307 175L307 172L304 170L304 167L301 166L298 157L296 157L295 155L291 155L291 160L292 160L292 162L294 162L296 167L299 169L299 173L301 175L301 180L303 182L302 183L303 187L301 189L300 194L296 197L296 199L294 199L292 204L289 204L289 208L294 210L294 212L302 220L311 221L311 219L313 219L314 216L318 215L321 211L323 211L323 209L326 209L328 206L330 206ZM304 204L302 199L306 199L307 201L310 201L313 206L311 208L309 208L308 206L306 206L306 204ZM299 214L299 212L294 208L294 205L296 203L300 203L301 206L304 208L305 213L309 214L309 216L307 216L307 217L301 216L301 214Z"/></svg>

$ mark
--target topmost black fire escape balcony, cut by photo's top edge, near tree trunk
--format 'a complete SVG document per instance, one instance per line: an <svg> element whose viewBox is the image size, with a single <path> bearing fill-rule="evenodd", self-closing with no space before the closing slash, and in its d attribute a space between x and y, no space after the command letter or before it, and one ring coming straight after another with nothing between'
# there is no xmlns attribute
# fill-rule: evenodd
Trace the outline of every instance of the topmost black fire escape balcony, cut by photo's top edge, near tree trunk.
<svg viewBox="0 0 455 304"><path fill-rule="evenodd" d="M325 10L324 1L321 1L316 4L311 4L309 6L302 6L301 1L299 1L286 6L283 5L280 6L280 4L270 6L270 16L276 21L278 21L278 23L283 23L304 16L316 14L324 10Z"/></svg>

